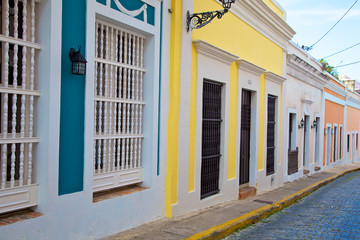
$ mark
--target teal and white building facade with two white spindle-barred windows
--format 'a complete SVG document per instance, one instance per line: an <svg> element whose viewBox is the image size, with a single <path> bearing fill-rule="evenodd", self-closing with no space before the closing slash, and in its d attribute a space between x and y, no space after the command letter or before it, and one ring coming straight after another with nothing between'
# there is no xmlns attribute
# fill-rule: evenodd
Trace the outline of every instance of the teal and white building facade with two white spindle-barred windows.
<svg viewBox="0 0 360 240"><path fill-rule="evenodd" d="M2 238L99 238L165 216L169 3L1 4L0 212L41 213L1 226ZM72 74L71 48L86 58L86 75Z"/></svg>

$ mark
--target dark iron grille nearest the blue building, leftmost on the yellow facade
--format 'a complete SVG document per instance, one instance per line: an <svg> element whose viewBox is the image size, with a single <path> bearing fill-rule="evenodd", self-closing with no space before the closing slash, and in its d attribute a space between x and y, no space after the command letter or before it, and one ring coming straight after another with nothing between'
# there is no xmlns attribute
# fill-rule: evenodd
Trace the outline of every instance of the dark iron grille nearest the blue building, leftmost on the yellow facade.
<svg viewBox="0 0 360 240"><path fill-rule="evenodd" d="M204 81L201 199L218 193L221 136L221 84Z"/></svg>

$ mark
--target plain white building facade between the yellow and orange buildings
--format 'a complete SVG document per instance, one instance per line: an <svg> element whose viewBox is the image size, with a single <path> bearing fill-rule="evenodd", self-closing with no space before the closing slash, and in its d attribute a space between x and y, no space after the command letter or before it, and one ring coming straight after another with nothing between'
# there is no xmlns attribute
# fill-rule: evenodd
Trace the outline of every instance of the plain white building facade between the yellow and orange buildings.
<svg viewBox="0 0 360 240"><path fill-rule="evenodd" d="M321 64L293 42L287 55L287 167L285 180L312 174L323 166L324 86Z"/></svg>

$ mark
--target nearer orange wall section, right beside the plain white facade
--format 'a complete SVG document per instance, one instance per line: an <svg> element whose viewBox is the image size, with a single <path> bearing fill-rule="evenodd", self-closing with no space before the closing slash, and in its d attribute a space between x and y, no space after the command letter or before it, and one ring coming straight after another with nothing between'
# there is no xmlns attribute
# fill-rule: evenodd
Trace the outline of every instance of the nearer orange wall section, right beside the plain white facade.
<svg viewBox="0 0 360 240"><path fill-rule="evenodd" d="M326 125L327 124L331 124L331 127L333 128L333 124L337 124L338 125L338 132L337 132L337 158L341 158L341 156L339 156L339 146L340 146L340 141L339 141L339 131L340 131L340 127L339 125L343 125L344 126L344 106L343 105L340 105L338 103L334 103L334 102L331 102L329 100L325 100L325 129L326 129ZM343 129L344 131L344 129ZM343 137L344 137L344 132L343 132ZM326 162L326 138L327 136L325 135L324 136L324 159L323 159L323 164L325 166L325 162ZM332 134L331 135L331 150L330 152L333 153L334 151L334 146L333 146L333 140L334 140L334 135ZM344 147L343 147L344 149ZM342 151L344 153L344 150ZM334 161L334 155L333 154L330 154L330 162L333 162Z"/></svg>

